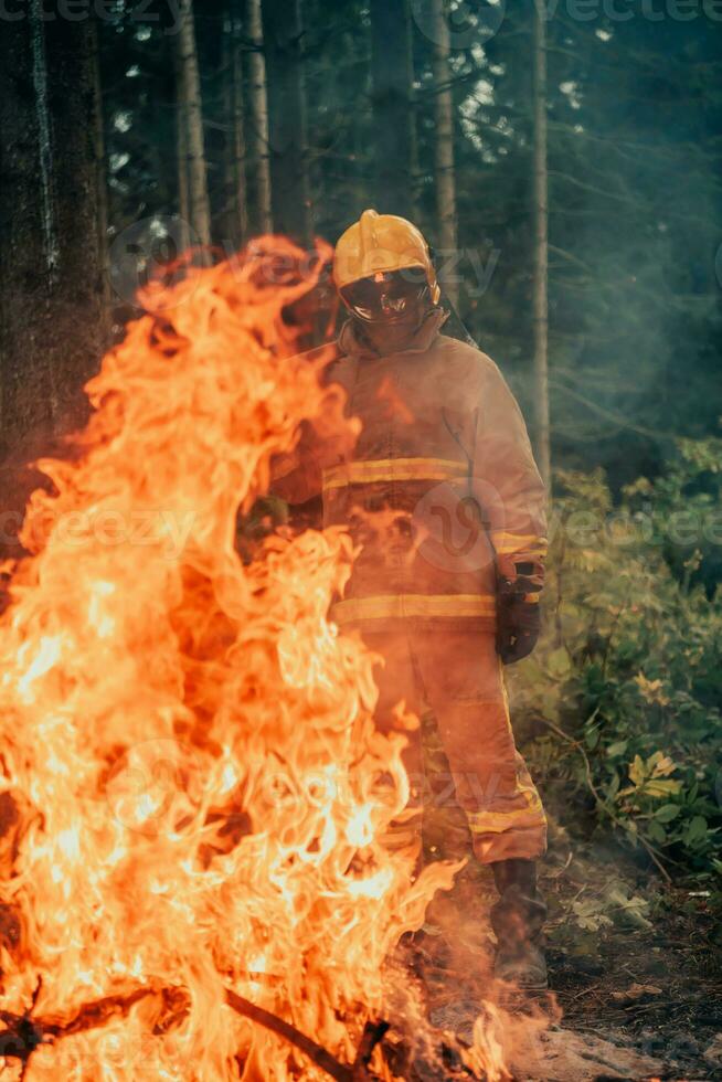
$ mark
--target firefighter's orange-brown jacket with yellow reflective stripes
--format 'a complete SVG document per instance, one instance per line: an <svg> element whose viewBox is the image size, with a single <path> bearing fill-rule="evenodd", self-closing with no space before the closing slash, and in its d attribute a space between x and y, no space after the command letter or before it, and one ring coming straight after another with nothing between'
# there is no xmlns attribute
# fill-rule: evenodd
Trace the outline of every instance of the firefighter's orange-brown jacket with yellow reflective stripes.
<svg viewBox="0 0 722 1082"><path fill-rule="evenodd" d="M361 420L352 454L306 439L274 491L322 491L323 524L358 545L341 626L452 620L493 632L498 574L540 574L545 494L519 406L495 362L442 333L433 309L413 340L381 356L348 322L329 382ZM287 467L288 468L288 467Z"/></svg>

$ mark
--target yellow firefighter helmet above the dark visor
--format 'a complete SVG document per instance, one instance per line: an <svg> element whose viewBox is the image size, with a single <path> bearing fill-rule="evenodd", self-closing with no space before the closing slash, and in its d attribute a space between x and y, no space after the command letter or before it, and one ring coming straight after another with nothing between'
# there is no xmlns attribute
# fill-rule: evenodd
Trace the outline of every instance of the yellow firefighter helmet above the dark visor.
<svg viewBox="0 0 722 1082"><path fill-rule="evenodd" d="M336 245L333 280L337 289L342 289L360 278L408 267L424 269L432 301L437 305L440 289L421 231L405 218L364 211Z"/></svg>

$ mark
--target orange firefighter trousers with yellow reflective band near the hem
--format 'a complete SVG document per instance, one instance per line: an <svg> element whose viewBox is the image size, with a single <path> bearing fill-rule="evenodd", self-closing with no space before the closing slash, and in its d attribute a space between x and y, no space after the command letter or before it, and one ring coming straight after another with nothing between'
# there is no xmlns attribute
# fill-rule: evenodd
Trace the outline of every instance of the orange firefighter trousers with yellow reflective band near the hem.
<svg viewBox="0 0 722 1082"><path fill-rule="evenodd" d="M460 807L481 863L540 857L546 819L514 744L493 635L405 627L364 630L362 637L383 658L374 669L379 728L401 726L395 709L401 700L423 721L407 733L404 753L411 806L431 813L437 832L439 824L446 829L446 820L457 834L455 810ZM443 754L435 753L435 743ZM392 844L405 847L415 835L421 846L422 829L422 815L412 816Z"/></svg>

